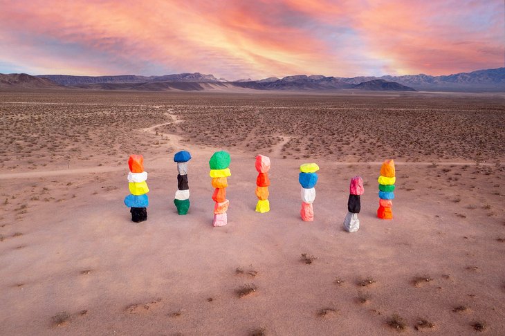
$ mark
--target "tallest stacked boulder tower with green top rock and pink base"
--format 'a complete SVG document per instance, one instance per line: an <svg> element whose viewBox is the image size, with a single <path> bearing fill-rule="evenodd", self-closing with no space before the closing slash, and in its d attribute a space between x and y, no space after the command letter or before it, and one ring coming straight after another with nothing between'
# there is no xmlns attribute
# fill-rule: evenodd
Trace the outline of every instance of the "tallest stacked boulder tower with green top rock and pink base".
<svg viewBox="0 0 505 336"><path fill-rule="evenodd" d="M224 226L228 224L226 211L230 205L230 200L226 199L226 187L228 187L228 177L230 172L230 154L226 151L217 151L212 154L209 160L210 177L212 178L212 187L214 187L214 220L213 226Z"/></svg>

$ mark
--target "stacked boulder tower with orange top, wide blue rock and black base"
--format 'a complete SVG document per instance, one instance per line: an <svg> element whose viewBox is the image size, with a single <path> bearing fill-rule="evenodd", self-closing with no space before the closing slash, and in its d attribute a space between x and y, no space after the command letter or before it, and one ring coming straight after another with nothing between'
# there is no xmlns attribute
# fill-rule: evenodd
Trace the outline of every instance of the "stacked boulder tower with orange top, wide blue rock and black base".
<svg viewBox="0 0 505 336"><path fill-rule="evenodd" d="M144 158L141 155L131 155L128 159L128 188L130 195L125 197L125 205L130 208L131 221L136 223L147 221L149 198L147 193L147 171L144 171Z"/></svg>

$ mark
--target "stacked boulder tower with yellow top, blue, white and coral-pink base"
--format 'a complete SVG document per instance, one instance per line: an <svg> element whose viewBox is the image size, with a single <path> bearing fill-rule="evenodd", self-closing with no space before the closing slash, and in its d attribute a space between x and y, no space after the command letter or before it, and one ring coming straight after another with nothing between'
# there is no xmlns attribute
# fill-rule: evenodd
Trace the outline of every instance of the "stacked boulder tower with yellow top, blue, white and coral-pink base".
<svg viewBox="0 0 505 336"><path fill-rule="evenodd" d="M302 209L300 216L303 221L311 222L314 220L314 209L312 203L315 200L315 184L318 183L319 166L315 163L304 163L300 166L300 175L298 182L302 185Z"/></svg>

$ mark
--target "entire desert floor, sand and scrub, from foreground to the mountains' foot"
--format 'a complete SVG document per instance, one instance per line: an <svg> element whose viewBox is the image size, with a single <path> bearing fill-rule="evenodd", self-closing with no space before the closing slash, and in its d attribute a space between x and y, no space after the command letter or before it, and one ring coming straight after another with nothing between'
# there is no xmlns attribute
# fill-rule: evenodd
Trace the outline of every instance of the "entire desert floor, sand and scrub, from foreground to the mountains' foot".
<svg viewBox="0 0 505 336"><path fill-rule="evenodd" d="M505 333L505 95L48 91L0 93L0 112L1 335ZM230 209L212 227L221 149ZM139 224L122 203L131 153L151 189ZM272 160L266 214L259 153ZM392 221L376 218L386 158ZM321 168L312 223L304 162Z"/></svg>

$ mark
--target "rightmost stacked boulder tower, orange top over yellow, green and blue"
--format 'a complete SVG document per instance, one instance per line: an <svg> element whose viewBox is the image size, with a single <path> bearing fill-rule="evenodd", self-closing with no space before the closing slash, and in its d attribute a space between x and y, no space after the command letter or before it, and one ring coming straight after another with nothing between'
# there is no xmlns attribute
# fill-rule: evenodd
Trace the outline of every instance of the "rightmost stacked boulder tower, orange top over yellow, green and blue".
<svg viewBox="0 0 505 336"><path fill-rule="evenodd" d="M385 160L380 167L378 178L379 207L377 217L380 219L393 219L392 199L394 198L394 183L396 182L394 160Z"/></svg>

